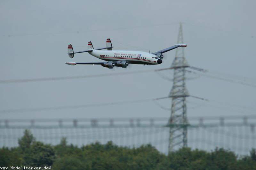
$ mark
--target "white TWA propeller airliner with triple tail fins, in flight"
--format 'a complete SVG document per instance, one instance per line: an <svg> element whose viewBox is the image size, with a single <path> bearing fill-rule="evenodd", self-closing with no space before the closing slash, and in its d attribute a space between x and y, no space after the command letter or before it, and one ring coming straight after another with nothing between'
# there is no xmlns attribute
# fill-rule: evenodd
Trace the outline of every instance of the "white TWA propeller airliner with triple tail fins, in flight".
<svg viewBox="0 0 256 170"><path fill-rule="evenodd" d="M84 53L88 52L89 54L105 60L106 62L98 62L98 63L75 63L75 62L66 62L68 65L76 65L76 64L99 64L103 67L107 67L112 69L114 67L122 67L126 68L129 64L144 64L144 65L155 65L161 64L163 61L163 53L170 51L172 49L178 47L187 47L186 44L174 44L174 46L165 48L163 50L157 51L155 53L147 53L142 51L121 51L121 50L112 50L112 43L110 39L107 39L107 47L106 48L97 48L94 49L92 46L92 42L88 42L88 50L75 52L73 51L73 47L71 44L68 45L68 56L70 58L74 57L76 53ZM100 51L101 49L108 49Z"/></svg>

